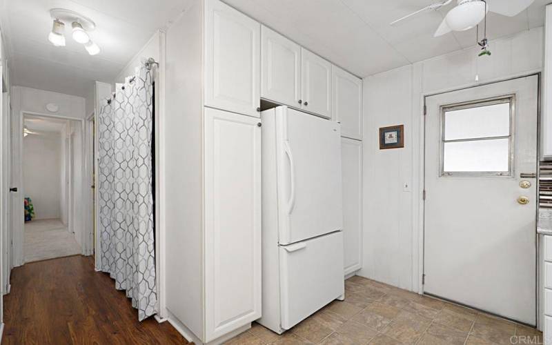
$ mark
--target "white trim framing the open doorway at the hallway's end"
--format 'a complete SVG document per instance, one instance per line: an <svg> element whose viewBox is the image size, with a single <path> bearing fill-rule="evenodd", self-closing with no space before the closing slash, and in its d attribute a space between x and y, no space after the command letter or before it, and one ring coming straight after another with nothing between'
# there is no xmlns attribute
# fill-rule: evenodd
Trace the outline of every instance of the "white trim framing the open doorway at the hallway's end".
<svg viewBox="0 0 552 345"><path fill-rule="evenodd" d="M36 116L40 116L40 117L50 117L50 118L53 118L53 119L66 119L66 120L72 120L72 121L79 121L80 122L80 125L81 125L81 154L82 154L82 157L86 157L86 132L85 132L85 126L84 126L84 119L79 119L78 117L69 117L69 116L64 116L64 115L54 115L54 114L46 114L46 113L43 113L43 112L33 112L33 111L28 111L28 110L24 110L24 109L21 109L19 110L19 132L22 133L23 131L23 116L24 115L36 115ZM17 152L17 154L19 155L19 157L23 157L23 135L22 134L19 134L17 135L17 139L19 139L19 152ZM79 181L79 184L81 184L81 186L86 186L86 164L83 164L83 166L81 167L82 171L81 171L81 181ZM23 201L24 201L24 198L25 198L25 193L24 193L24 186L23 186L23 161L21 159L19 159L19 181L20 181L20 188L21 188L21 192L19 192L19 199L21 201L21 205L23 205ZM86 188L85 188L86 189ZM84 205L84 210L89 210L90 209L90 202L88 202L88 199L86 198L86 190L85 190L85 193L83 193L83 195L81 196L82 199L81 199L81 205ZM21 266L22 264L25 263L25 256L24 256L24 253L23 253L23 227L24 227L24 224L25 224L25 221L24 221L24 215L17 215L18 213L18 210L19 212L21 211L21 208L18 208L18 209L14 209L13 210L13 214L12 214L12 217L14 217L14 219L19 219L19 221L17 221L17 228L14 228L14 237L13 237L13 242L14 242L14 248L17 248L16 250L14 250L14 266ZM23 213L24 213L24 209L23 209ZM83 217L83 214L79 215L79 217ZM81 243L83 244L83 248L82 248L82 252L81 254L82 255L92 255L92 245L90 243L90 235L88 233L90 233L90 228L87 226L86 224L86 221L83 222L83 224L85 225L85 228L83 229L83 232L81 234Z"/></svg>

